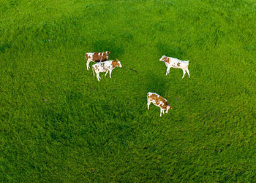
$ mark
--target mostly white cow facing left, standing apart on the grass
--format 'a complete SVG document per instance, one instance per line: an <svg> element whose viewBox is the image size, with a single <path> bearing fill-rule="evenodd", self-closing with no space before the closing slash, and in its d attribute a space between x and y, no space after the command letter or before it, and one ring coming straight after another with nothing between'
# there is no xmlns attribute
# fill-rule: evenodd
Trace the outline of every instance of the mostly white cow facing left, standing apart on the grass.
<svg viewBox="0 0 256 183"><path fill-rule="evenodd" d="M162 58L160 58L159 61L165 62L165 66L167 66L167 70L166 70L166 74L165 74L166 76L170 72L171 67L173 67L175 69L182 69L182 71L183 71L182 79L184 78L186 71L187 71L187 74L189 74L189 69L188 69L189 61L181 61L181 60L178 60L177 58L171 58L171 57L167 57L165 55L162 55ZM190 75L189 75L189 77L190 77Z"/></svg>

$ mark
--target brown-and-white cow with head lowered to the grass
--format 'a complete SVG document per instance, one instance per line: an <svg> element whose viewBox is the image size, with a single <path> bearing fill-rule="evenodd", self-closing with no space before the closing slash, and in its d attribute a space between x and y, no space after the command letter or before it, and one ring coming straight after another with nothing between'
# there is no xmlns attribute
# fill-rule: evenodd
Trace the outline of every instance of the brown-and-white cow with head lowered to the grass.
<svg viewBox="0 0 256 183"><path fill-rule="evenodd" d="M149 110L149 105L151 104L151 102L153 102L153 104L155 106L159 106L160 108L160 117L162 117L162 113L168 113L169 109L173 110L173 107L171 107L167 100L165 98L162 98L162 96L159 96L157 93L151 93L148 92L147 94L148 97L148 110Z"/></svg>

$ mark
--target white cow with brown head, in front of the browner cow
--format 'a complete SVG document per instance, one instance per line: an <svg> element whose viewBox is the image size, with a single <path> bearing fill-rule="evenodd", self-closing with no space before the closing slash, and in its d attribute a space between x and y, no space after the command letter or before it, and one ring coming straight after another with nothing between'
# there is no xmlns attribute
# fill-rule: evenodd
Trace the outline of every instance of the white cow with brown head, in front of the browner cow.
<svg viewBox="0 0 256 183"><path fill-rule="evenodd" d="M121 67L121 63L120 61L118 61L117 58L116 58L116 61L105 61L105 62L95 63L93 66L91 66L91 68L92 68L93 74L94 74L94 71L97 74L97 79L99 81L99 79L101 78L99 77L99 72L106 72L105 74L105 77L106 77L109 71L109 76L111 78L111 72L113 69L116 68L116 66Z"/></svg>

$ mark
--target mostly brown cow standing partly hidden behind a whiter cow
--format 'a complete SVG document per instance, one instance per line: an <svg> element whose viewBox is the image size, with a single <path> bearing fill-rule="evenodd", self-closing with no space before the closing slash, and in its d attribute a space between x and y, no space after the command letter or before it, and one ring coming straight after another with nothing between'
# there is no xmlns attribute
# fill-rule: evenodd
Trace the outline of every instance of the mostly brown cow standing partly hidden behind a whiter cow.
<svg viewBox="0 0 256 183"><path fill-rule="evenodd" d="M86 67L87 70L89 70L90 66L89 63L90 62L104 62L104 61L108 61L108 54L110 54L110 52L106 51L106 52L87 52L86 53Z"/></svg>

